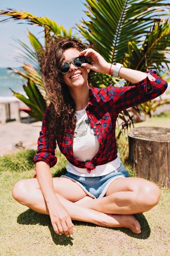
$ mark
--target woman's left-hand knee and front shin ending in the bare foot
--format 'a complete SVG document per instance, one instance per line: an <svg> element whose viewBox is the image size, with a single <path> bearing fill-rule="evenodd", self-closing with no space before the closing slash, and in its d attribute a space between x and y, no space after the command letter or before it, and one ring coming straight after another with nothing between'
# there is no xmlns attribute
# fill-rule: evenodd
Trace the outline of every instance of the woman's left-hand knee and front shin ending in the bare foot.
<svg viewBox="0 0 170 256"><path fill-rule="evenodd" d="M91 222L104 227L126 227L136 234L141 232L139 222L133 216L105 214L75 204L58 193L56 195L72 220ZM13 187L13 198L38 213L49 214L46 202L35 179L17 182ZM73 198L73 201L76 201L75 198Z"/></svg>

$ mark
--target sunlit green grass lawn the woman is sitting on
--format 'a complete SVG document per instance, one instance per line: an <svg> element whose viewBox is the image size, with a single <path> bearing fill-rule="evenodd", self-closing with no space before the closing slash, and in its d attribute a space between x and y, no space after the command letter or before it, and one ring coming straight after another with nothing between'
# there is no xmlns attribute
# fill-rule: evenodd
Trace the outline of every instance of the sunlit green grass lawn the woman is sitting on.
<svg viewBox="0 0 170 256"><path fill-rule="evenodd" d="M154 117L157 123L167 116ZM159 121L158 121L159 120ZM128 141L118 141L122 162L131 176L135 172L127 162ZM11 190L15 182L33 177L34 150L0 157L0 255L2 256L169 256L170 255L170 189L161 189L159 204L149 212L136 214L141 234L128 229L112 229L86 222L73 221L74 236L58 236L49 216L15 202ZM66 159L58 154L53 176L65 172Z"/></svg>

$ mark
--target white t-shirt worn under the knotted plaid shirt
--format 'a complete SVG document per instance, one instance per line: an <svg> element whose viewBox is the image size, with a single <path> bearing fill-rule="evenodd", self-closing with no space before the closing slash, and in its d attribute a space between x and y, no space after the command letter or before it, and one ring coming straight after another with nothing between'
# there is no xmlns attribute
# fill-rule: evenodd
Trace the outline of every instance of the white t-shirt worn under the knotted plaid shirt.
<svg viewBox="0 0 170 256"><path fill-rule="evenodd" d="M99 150L99 141L93 131L93 128L91 128L88 123L86 108L75 111L75 116L77 121L73 138L73 155L76 159L83 162L86 162L87 160L91 161ZM107 164L96 166L94 170L91 170L91 173L88 173L86 168L78 168L71 163L67 164L66 170L82 177L97 177L115 171L120 167L120 165L121 161L119 153L117 153L117 158L115 160Z"/></svg>

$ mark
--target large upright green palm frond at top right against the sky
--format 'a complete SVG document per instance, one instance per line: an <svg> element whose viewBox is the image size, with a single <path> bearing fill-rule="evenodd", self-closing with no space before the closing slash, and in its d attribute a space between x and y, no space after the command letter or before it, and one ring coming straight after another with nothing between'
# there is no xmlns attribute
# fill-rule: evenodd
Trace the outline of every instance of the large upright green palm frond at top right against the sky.
<svg viewBox="0 0 170 256"><path fill-rule="evenodd" d="M139 40L155 18L155 11L169 15L170 7L160 0L86 0L90 22L77 25L90 43L97 43L108 62L121 62L128 52L128 41ZM166 10L163 8L166 6Z"/></svg>

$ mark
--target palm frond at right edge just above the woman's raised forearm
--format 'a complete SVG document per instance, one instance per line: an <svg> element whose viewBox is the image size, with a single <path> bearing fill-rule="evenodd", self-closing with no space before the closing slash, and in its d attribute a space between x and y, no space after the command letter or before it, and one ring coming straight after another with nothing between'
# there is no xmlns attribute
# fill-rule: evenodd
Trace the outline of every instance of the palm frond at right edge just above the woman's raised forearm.
<svg viewBox="0 0 170 256"><path fill-rule="evenodd" d="M167 55L170 45L170 22L158 22L153 25L146 36L143 45L138 48L135 42L128 43L128 54L124 59L124 66L145 72L156 67L162 70L163 63L169 63ZM128 83L129 85L129 83Z"/></svg>

